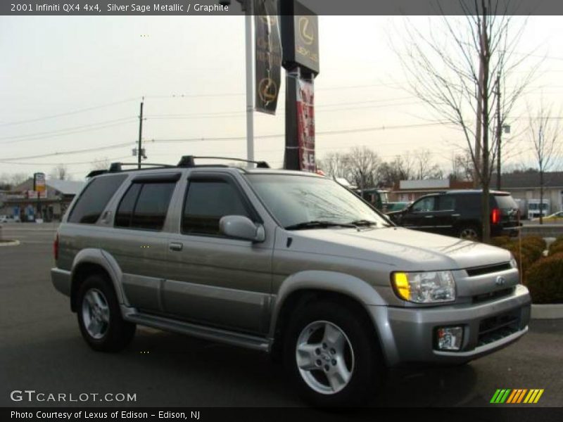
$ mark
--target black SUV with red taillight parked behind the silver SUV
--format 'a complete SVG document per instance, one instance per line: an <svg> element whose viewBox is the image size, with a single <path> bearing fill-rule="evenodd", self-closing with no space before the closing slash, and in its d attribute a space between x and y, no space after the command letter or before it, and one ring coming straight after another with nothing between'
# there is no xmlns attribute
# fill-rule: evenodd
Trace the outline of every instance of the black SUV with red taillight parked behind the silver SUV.
<svg viewBox="0 0 563 422"><path fill-rule="evenodd" d="M480 190L446 191L422 196L405 210L391 212L393 222L409 229L457 236L469 240L481 238L483 215ZM510 193L491 191L491 236L514 236L519 227L518 205Z"/></svg>

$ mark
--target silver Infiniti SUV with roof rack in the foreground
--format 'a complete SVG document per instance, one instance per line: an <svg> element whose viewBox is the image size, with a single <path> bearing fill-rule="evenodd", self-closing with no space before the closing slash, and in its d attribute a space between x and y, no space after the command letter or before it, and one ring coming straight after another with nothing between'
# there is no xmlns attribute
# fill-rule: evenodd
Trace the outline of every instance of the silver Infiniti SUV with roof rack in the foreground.
<svg viewBox="0 0 563 422"><path fill-rule="evenodd" d="M271 352L317 405L358 404L386 369L462 364L528 330L510 252L395 226L317 174L196 165L91 174L51 278L94 350L136 324Z"/></svg>

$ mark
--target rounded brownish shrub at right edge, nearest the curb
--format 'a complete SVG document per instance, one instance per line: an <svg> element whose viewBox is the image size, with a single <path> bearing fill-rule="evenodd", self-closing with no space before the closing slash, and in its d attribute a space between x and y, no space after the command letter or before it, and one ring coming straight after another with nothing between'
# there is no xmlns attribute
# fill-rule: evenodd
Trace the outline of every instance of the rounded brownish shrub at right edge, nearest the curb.
<svg viewBox="0 0 563 422"><path fill-rule="evenodd" d="M563 303L563 252L531 264L526 286L533 303Z"/></svg>

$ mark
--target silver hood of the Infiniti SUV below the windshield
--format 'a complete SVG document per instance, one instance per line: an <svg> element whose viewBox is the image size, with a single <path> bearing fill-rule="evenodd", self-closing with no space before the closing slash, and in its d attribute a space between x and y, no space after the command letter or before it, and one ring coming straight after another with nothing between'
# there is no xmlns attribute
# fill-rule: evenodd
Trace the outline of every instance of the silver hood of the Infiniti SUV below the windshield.
<svg viewBox="0 0 563 422"><path fill-rule="evenodd" d="M381 229L328 228L286 231L291 249L361 260L370 260L405 271L464 269L510 261L505 249L424 231L386 227Z"/></svg>

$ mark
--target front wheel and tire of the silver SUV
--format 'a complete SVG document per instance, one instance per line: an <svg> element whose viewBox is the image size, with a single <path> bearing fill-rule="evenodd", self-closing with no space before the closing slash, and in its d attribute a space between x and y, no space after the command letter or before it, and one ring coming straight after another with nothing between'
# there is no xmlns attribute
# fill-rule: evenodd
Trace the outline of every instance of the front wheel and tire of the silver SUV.
<svg viewBox="0 0 563 422"><path fill-rule="evenodd" d="M385 378L377 334L351 307L314 302L289 322L284 366L298 393L317 407L358 406Z"/></svg>

